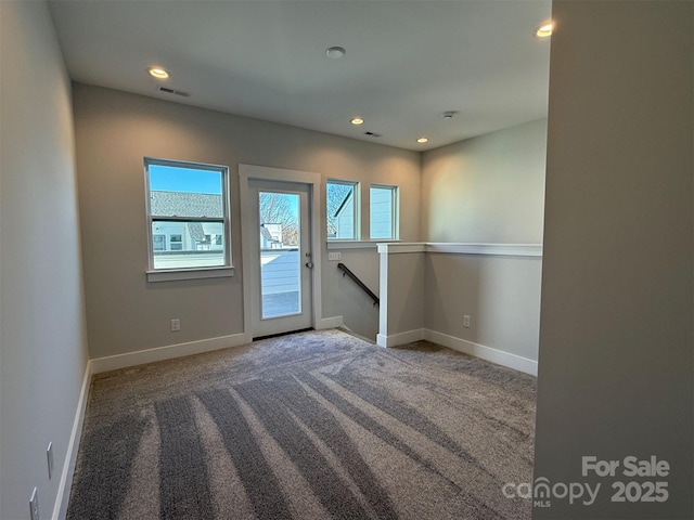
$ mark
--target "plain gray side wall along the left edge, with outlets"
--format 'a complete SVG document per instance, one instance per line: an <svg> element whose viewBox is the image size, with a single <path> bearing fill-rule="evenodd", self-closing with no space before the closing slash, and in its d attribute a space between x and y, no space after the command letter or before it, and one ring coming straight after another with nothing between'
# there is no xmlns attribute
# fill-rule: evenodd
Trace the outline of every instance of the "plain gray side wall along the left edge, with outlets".
<svg viewBox="0 0 694 520"><path fill-rule="evenodd" d="M34 486L50 518L87 343L69 81L43 2L0 2L0 518L28 518Z"/></svg>

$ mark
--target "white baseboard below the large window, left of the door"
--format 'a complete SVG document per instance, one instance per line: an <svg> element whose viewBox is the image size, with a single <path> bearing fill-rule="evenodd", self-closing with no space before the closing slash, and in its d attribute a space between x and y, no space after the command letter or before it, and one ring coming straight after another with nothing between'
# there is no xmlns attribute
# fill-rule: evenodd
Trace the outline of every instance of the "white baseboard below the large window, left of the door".
<svg viewBox="0 0 694 520"><path fill-rule="evenodd" d="M239 347L249 342L250 340L247 338L247 335L232 334L230 336L221 336L219 338L201 339L198 341L190 341L188 343L168 344L165 347L156 347L154 349L128 352L126 354L97 358L91 360L91 368L93 374L100 374L102 372L143 365L155 361L172 360L174 358L182 358L184 355L200 354L203 352L210 352L213 350L227 349L229 347Z"/></svg>

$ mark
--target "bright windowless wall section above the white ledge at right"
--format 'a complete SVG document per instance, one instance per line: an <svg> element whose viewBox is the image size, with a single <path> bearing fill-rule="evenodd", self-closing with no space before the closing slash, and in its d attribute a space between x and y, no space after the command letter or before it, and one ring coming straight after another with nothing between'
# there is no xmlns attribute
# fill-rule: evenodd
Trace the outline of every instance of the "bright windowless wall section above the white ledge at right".
<svg viewBox="0 0 694 520"><path fill-rule="evenodd" d="M422 157L422 239L542 243L547 120Z"/></svg>

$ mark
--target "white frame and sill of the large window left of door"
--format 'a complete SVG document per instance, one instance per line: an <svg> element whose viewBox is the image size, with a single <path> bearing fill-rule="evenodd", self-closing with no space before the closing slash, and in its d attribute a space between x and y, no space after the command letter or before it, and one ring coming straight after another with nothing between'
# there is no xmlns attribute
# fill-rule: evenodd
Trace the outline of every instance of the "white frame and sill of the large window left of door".
<svg viewBox="0 0 694 520"><path fill-rule="evenodd" d="M145 199L145 221L147 227L147 256L149 269L145 271L147 282L168 282L176 280L195 280L209 277L233 276L231 251L231 204L230 204L230 182L229 167L222 165L211 165L206 162L194 162L189 160L162 159L156 157L144 157L144 199ZM170 168L207 170L218 172L221 176L221 204L222 217L176 217L152 214L152 196L150 188L150 167L164 166ZM154 266L154 242L152 224L154 222L219 222L224 230L224 263L223 265L205 265L162 269Z"/></svg>

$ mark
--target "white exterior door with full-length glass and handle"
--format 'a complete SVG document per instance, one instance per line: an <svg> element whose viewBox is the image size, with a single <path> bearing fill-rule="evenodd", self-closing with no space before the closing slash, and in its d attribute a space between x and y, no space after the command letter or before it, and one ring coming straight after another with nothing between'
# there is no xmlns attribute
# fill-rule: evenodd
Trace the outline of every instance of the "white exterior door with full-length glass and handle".
<svg viewBox="0 0 694 520"><path fill-rule="evenodd" d="M250 179L248 187L253 337L309 328L311 186Z"/></svg>

